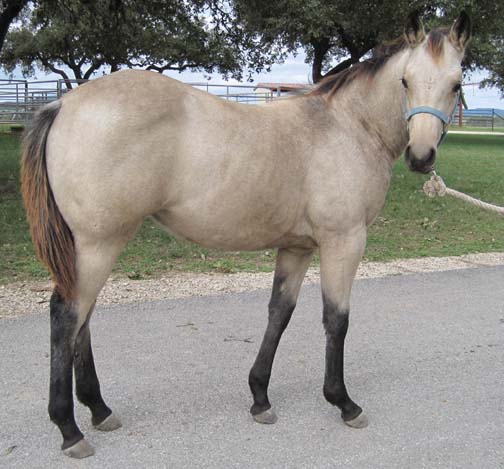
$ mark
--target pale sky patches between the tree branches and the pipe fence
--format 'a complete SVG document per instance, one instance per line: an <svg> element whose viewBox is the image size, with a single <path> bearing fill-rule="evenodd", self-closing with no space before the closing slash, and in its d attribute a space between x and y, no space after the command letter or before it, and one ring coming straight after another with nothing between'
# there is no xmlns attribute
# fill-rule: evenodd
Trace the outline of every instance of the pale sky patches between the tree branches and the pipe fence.
<svg viewBox="0 0 504 469"><path fill-rule="evenodd" d="M306 64L305 55L300 51L296 56L289 55L283 64L273 65L268 73L254 74L252 83L243 82L242 84L258 84L260 82L268 83L309 83L311 70L310 65ZM70 74L71 75L71 74ZM177 80L186 83L207 82L208 75L186 71L178 73L174 71L165 72L165 75L176 78ZM465 83L478 83L486 77L486 73L475 72L467 77ZM98 75L99 76L99 75ZM211 76L209 83L213 84L237 84L236 80L225 81L219 74L214 73ZM8 78L3 71L0 71L0 79ZM14 78L21 79L20 73L16 73ZM61 78L59 75L46 75L40 71L37 74L39 80L53 80ZM464 88L466 100L470 109L475 108L497 108L504 109L504 99L501 98L499 91L496 88L480 89L478 86L470 85Z"/></svg>

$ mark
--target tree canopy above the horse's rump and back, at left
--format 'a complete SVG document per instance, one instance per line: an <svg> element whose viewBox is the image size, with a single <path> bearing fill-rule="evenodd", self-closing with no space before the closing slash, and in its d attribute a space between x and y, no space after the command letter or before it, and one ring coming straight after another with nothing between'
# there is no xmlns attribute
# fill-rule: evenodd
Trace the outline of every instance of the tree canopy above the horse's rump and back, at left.
<svg viewBox="0 0 504 469"><path fill-rule="evenodd" d="M241 79L274 61L254 36L232 34L199 1L52 0L32 2L28 21L12 30L1 54L8 72L35 66L64 79L88 79L102 67L162 72L217 71ZM73 74L69 76L68 69Z"/></svg>

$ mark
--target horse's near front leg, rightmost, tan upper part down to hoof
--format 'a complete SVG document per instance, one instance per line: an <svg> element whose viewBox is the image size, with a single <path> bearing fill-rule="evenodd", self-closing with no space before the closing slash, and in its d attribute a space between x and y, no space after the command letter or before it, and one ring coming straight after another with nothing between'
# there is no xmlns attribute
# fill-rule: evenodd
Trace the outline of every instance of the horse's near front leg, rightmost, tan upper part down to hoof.
<svg viewBox="0 0 504 469"><path fill-rule="evenodd" d="M341 409L344 422L366 427L367 417L350 399L343 376L345 336L348 330L350 291L366 246L365 227L347 234L326 233L320 244L323 323L326 331L324 397Z"/></svg>

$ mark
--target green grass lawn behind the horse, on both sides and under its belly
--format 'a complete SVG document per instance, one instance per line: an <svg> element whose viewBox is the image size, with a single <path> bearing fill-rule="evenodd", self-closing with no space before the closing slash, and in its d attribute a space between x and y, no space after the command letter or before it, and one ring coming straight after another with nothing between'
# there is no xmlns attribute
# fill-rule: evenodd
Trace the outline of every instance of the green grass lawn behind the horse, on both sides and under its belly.
<svg viewBox="0 0 504 469"><path fill-rule="evenodd" d="M47 278L34 257L19 195L19 141L0 133L0 283ZM437 171L450 187L504 205L504 137L450 135ZM386 205L371 227L365 257L460 255L504 250L504 219L451 198L429 199L425 176L399 160ZM274 252L221 252L179 241L147 220L128 245L115 272L132 279L176 271L270 271ZM315 259L317 262L317 259Z"/></svg>

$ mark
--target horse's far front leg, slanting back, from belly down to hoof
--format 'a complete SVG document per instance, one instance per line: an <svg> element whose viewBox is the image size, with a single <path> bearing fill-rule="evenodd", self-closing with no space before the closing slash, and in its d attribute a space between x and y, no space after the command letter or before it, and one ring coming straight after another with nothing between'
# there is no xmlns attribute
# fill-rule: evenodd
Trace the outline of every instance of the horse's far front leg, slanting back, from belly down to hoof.
<svg viewBox="0 0 504 469"><path fill-rule="evenodd" d="M282 333L296 306L299 289L312 254L312 251L305 250L278 250L268 326L249 375L249 386L254 398L250 412L259 423L275 423L277 420L268 399L271 367Z"/></svg>

